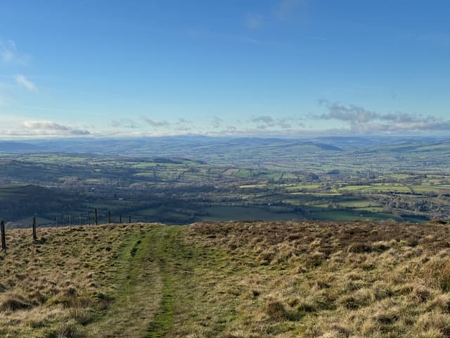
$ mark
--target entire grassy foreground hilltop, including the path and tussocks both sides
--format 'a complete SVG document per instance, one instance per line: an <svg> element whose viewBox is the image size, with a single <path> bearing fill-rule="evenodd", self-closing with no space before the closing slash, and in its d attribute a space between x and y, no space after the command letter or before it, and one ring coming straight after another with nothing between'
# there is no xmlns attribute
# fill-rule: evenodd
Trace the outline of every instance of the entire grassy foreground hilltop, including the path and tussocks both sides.
<svg viewBox="0 0 450 338"><path fill-rule="evenodd" d="M9 230L0 337L450 337L450 227Z"/></svg>

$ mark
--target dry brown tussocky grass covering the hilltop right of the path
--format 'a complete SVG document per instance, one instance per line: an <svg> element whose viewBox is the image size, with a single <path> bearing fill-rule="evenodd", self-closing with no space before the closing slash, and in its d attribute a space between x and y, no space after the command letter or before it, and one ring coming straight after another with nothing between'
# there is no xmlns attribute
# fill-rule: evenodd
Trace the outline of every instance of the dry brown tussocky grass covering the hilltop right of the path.
<svg viewBox="0 0 450 338"><path fill-rule="evenodd" d="M450 337L446 225L229 222L186 232L229 257L216 270L215 287L236 294L224 337Z"/></svg>

